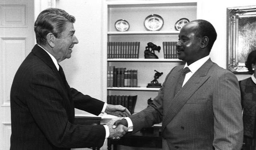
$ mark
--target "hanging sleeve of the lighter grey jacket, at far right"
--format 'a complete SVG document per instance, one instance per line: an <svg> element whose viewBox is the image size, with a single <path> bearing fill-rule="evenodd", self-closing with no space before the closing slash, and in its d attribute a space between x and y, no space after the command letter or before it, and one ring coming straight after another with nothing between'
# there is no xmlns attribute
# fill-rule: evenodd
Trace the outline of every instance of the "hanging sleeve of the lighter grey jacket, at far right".
<svg viewBox="0 0 256 150"><path fill-rule="evenodd" d="M222 73L213 93L214 142L216 150L240 150L243 140L240 88L236 76Z"/></svg>

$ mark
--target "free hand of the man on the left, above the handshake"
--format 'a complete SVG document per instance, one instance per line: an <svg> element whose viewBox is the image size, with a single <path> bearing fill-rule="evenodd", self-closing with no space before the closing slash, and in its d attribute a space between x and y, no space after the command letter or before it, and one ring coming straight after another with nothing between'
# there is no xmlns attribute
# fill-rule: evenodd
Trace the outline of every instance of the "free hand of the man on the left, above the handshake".
<svg viewBox="0 0 256 150"><path fill-rule="evenodd" d="M123 107L122 105L111 105L111 104L107 105L105 113L111 114L114 116L119 116L119 117L126 117L131 115L128 109Z"/></svg>

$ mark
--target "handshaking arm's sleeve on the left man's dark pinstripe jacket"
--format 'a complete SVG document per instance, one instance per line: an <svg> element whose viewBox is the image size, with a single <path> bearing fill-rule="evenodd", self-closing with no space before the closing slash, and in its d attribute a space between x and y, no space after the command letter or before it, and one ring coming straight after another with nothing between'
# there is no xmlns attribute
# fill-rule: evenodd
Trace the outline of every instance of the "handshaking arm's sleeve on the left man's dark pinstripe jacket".
<svg viewBox="0 0 256 150"><path fill-rule="evenodd" d="M37 73L30 80L26 103L40 130L59 148L103 146L103 125L75 125L69 122L67 110L72 108L69 108L69 99L63 98L65 93L58 85L56 77L47 73ZM75 99L78 98L75 96Z"/></svg>

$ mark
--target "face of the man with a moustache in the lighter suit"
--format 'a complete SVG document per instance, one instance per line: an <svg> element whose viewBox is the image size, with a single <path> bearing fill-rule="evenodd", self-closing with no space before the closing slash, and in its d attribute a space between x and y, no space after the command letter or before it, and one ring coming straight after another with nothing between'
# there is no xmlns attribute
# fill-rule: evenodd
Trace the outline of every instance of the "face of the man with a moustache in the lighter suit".
<svg viewBox="0 0 256 150"><path fill-rule="evenodd" d="M196 37L195 31L198 23L189 22L179 33L179 40L176 44L178 58L187 62L187 65L202 58L200 43L201 38Z"/></svg>

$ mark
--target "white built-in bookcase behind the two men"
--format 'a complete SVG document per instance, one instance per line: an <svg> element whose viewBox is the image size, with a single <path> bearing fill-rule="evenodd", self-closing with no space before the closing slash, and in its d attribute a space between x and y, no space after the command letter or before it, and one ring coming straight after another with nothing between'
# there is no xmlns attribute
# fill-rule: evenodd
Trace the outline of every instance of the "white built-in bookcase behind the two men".
<svg viewBox="0 0 256 150"><path fill-rule="evenodd" d="M147 84L154 79L155 71L163 72L159 83L163 83L167 73L176 65L183 62L179 59L164 59L163 41L177 41L179 31L175 30L175 23L181 18L190 21L197 19L198 2L160 1L160 0L106 0L103 3L103 64L106 69L103 74L107 82L107 66L137 69L138 87L104 87L107 95L138 95L135 113L147 107L147 99L157 96L159 88L147 88ZM147 31L144 20L151 14L160 15L164 24L160 31ZM128 31L115 30L115 22L124 19L129 22ZM107 59L108 41L139 41L139 59ZM144 51L148 42L161 46L155 54L159 59L144 59ZM105 84L107 85L107 84Z"/></svg>

